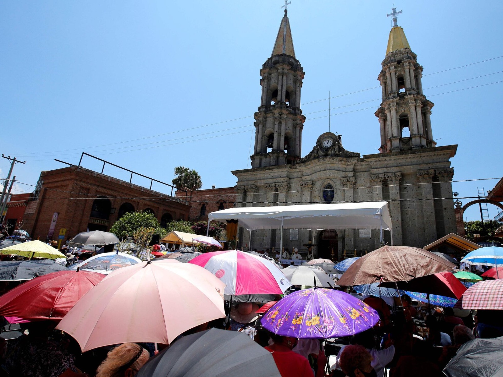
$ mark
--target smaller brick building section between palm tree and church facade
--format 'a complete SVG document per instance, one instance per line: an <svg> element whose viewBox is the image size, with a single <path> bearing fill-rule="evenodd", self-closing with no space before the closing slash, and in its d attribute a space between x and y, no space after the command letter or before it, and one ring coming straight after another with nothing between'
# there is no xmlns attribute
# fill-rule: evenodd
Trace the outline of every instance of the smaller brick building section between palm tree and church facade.
<svg viewBox="0 0 503 377"><path fill-rule="evenodd" d="M175 195L185 199L185 192L177 191ZM187 197L191 206L190 221L208 221L210 212L224 210L235 206L236 190L234 187L221 189L196 190L189 192Z"/></svg>

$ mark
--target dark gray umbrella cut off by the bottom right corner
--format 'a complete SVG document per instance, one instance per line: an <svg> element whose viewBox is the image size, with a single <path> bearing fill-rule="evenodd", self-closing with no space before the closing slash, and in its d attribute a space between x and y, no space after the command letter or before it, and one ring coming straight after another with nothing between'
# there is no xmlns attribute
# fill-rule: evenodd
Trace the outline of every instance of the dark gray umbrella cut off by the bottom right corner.
<svg viewBox="0 0 503 377"><path fill-rule="evenodd" d="M444 368L448 377L503 375L503 337L474 339L463 344Z"/></svg>

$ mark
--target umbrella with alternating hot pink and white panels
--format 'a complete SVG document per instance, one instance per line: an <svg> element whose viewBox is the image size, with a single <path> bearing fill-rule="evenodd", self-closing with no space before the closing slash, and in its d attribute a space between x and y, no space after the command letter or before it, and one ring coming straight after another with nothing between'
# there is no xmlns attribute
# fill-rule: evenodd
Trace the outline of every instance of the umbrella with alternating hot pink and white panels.
<svg viewBox="0 0 503 377"><path fill-rule="evenodd" d="M289 287L285 274L269 260L240 250L213 251L192 259L226 285L225 295L277 294Z"/></svg>

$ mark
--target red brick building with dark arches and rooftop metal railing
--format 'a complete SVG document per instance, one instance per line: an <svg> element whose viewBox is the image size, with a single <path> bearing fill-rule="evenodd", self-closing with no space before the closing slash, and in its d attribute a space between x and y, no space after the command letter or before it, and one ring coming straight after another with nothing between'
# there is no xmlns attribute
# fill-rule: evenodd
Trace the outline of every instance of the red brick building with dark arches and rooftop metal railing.
<svg viewBox="0 0 503 377"><path fill-rule="evenodd" d="M43 171L26 206L23 229L33 239L45 240L57 239L64 228L65 241L87 229L108 231L128 212L151 212L161 225L188 220L190 207L183 194L165 195L78 166Z"/></svg>

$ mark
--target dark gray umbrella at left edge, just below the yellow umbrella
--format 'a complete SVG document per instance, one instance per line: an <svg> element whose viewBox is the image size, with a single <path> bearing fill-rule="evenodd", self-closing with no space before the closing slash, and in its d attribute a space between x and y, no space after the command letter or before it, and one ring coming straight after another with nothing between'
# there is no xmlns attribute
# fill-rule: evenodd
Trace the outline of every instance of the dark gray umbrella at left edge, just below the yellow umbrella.
<svg viewBox="0 0 503 377"><path fill-rule="evenodd" d="M47 273L64 271L66 267L51 259L0 261L0 281L30 280Z"/></svg>

